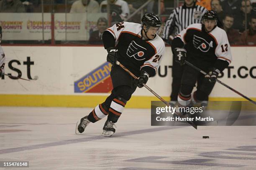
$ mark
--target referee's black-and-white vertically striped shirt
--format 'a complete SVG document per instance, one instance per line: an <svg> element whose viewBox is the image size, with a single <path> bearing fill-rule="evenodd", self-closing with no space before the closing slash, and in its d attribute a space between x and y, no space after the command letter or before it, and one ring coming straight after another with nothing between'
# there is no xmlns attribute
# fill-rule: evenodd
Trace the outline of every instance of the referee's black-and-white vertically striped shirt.
<svg viewBox="0 0 256 170"><path fill-rule="evenodd" d="M173 39L179 32L189 25L201 23L202 15L204 15L206 10L205 7L199 5L186 7L185 4L175 8L168 20L166 20L162 38L168 42L170 35Z"/></svg>

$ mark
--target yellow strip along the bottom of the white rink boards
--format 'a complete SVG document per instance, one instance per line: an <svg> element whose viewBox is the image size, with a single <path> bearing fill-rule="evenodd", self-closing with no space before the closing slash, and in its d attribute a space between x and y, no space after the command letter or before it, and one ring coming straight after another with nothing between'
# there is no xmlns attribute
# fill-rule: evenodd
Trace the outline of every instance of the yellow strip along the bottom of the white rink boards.
<svg viewBox="0 0 256 170"><path fill-rule="evenodd" d="M77 96L77 95L0 95L0 106L27 106L27 107L95 107L105 101L107 96ZM169 101L169 97L163 97ZM210 101L247 101L235 97L210 97ZM256 100L256 98L252 98ZM151 101L160 101L154 96L133 96L125 107L150 108ZM225 105L215 106L216 109L228 109ZM212 109L214 109L212 108ZM253 108L255 107L247 107ZM252 110L252 109L249 109Z"/></svg>

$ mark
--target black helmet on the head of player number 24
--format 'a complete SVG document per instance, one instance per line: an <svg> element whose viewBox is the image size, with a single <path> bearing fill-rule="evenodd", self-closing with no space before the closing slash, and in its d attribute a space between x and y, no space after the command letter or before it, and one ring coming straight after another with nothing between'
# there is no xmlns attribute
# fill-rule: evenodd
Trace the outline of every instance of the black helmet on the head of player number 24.
<svg viewBox="0 0 256 170"><path fill-rule="evenodd" d="M161 27L161 21L154 13L146 13L141 18L143 25L159 28Z"/></svg>

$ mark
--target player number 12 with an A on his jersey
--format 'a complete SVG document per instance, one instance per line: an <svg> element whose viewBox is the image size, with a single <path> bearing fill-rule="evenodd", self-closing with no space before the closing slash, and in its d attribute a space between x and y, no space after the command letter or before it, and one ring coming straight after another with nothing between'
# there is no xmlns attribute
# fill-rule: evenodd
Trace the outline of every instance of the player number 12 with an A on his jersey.
<svg viewBox="0 0 256 170"><path fill-rule="evenodd" d="M178 95L179 104L186 106L191 100L207 101L218 74L228 67L232 60L227 34L217 26L216 13L207 11L201 24L192 24L182 30L174 38L172 50L176 61L181 65L187 60L208 73L204 76L194 68L184 65ZM196 82L197 90L191 94Z"/></svg>

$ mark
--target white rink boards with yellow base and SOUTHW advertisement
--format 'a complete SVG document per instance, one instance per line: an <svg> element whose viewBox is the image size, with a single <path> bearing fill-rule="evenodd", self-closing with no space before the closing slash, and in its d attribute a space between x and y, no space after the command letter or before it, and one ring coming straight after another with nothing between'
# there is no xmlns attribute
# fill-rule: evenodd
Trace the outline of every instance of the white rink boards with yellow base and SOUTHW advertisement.
<svg viewBox="0 0 256 170"><path fill-rule="evenodd" d="M1 106L94 107L112 89L111 65L104 47L3 46L5 73L38 80L13 80L0 77ZM221 81L256 100L256 47L231 47L233 62L224 70ZM155 77L147 85L169 100L172 84L172 52L166 47ZM128 107L150 107L157 100L145 88L134 93ZM243 100L231 90L216 84L210 100Z"/></svg>

